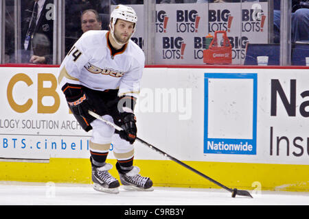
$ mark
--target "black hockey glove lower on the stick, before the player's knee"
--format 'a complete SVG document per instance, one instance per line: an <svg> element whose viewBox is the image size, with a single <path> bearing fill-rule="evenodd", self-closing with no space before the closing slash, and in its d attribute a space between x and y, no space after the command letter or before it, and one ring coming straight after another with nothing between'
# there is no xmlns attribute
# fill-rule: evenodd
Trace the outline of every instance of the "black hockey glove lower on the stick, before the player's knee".
<svg viewBox="0 0 309 219"><path fill-rule="evenodd" d="M124 130L119 131L119 136L120 138L130 142L130 144L133 144L137 134L135 114L130 112L122 112L120 113L120 117L122 123L121 127Z"/></svg>

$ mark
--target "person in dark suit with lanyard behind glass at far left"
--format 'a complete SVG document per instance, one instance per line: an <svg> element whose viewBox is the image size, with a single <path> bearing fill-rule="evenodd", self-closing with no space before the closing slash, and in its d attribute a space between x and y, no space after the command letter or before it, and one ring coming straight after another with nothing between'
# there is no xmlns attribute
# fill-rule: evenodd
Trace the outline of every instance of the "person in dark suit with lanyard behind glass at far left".
<svg viewBox="0 0 309 219"><path fill-rule="evenodd" d="M21 62L52 64L54 0L32 0L25 5L21 30Z"/></svg>

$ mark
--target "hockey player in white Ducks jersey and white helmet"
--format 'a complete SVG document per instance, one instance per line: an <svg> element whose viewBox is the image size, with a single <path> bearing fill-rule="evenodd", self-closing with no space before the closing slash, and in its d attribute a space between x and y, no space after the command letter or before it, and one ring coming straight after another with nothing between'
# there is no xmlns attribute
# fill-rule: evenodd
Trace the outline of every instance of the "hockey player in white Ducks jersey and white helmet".
<svg viewBox="0 0 309 219"><path fill-rule="evenodd" d="M119 181L108 172L112 165L106 163L111 142L124 188L153 190L151 179L139 175L139 168L133 166L134 105L145 62L144 52L130 40L136 23L133 8L117 5L111 13L110 30L84 33L60 65L58 83L71 112L85 131L93 130L89 142L93 188L102 192L119 192ZM124 131L93 118L88 110Z"/></svg>

